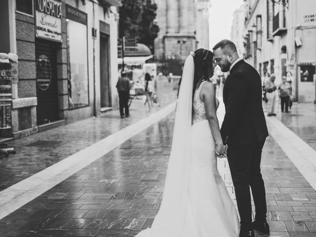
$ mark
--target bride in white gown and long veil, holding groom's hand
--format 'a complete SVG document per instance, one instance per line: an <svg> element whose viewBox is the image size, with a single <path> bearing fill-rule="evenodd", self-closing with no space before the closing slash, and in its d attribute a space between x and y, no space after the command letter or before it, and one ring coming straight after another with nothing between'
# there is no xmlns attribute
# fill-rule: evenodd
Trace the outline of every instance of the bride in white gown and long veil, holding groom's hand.
<svg viewBox="0 0 316 237"><path fill-rule="evenodd" d="M212 61L203 48L185 61L161 206L152 227L136 237L238 237L237 211L217 170L225 146Z"/></svg>

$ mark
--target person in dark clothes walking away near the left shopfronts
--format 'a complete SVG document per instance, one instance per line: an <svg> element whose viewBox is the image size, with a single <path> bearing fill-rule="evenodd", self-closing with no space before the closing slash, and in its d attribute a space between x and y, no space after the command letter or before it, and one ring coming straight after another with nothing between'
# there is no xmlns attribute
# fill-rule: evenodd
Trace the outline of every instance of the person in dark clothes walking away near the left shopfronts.
<svg viewBox="0 0 316 237"><path fill-rule="evenodd" d="M120 118L129 117L128 109L128 99L129 99L129 89L131 87L129 79L126 77L126 72L121 73L121 77L118 78L117 89L118 89L118 104L119 104L119 115Z"/></svg>

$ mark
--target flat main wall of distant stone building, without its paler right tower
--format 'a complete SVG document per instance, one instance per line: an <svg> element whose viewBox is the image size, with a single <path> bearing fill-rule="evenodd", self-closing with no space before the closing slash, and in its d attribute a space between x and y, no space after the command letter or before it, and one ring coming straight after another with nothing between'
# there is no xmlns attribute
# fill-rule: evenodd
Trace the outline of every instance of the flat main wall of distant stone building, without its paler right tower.
<svg viewBox="0 0 316 237"><path fill-rule="evenodd" d="M197 49L197 1L155 0L156 22L160 28L155 39L155 60L168 67L165 73L182 73L181 67L190 51Z"/></svg>

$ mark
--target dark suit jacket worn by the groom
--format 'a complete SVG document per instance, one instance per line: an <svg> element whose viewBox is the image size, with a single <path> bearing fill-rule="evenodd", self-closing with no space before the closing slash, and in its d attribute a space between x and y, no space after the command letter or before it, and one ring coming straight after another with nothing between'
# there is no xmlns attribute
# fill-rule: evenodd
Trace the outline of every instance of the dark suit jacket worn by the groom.
<svg viewBox="0 0 316 237"><path fill-rule="evenodd" d="M253 144L269 135L262 109L261 78L244 60L231 69L224 84L223 100L226 114L221 135L225 144Z"/></svg>

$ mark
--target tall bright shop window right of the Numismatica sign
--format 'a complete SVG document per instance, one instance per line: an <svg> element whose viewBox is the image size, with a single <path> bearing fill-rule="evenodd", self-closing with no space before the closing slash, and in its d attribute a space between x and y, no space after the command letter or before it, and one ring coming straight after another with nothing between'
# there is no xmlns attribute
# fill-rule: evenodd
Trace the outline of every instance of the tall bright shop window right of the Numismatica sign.
<svg viewBox="0 0 316 237"><path fill-rule="evenodd" d="M67 12L68 9L69 8L66 9ZM79 14L76 14L76 12L74 13L74 11L78 11ZM84 12L74 8L71 8L69 12L77 16L86 16ZM86 24L76 21L77 18L72 18L74 20L66 20L68 48L68 95L69 109L77 109L89 105L87 26Z"/></svg>

